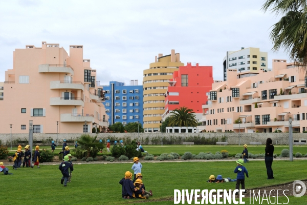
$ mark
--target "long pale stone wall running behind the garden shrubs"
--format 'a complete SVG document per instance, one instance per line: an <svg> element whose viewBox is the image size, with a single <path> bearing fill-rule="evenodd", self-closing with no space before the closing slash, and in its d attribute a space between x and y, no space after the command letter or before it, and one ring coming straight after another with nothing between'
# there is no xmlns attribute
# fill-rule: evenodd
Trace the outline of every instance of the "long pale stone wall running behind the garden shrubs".
<svg viewBox="0 0 307 205"><path fill-rule="evenodd" d="M63 139L67 140L75 140L82 133L67 133L67 134L58 134L59 144L61 144ZM95 133L90 133L92 136L95 136ZM163 133L163 138L186 138L186 137L205 137L205 138L222 138L225 133ZM227 133L227 141L230 145L238 145L239 137L238 133ZM53 138L56 140L56 134L45 134L45 133L34 133L33 139L35 140L46 140L48 138ZM138 133L99 133L98 139L102 138L110 138L110 139L125 139L130 137L130 139L138 139ZM161 133L139 133L140 141L145 145L145 138L149 139L149 145L151 145L151 139L161 137ZM251 141L262 142L262 145L266 144L267 138L270 137L273 140L274 145L287 145L289 144L289 133L244 133L240 135L240 144L249 145ZM27 140L29 138L29 134L12 134L12 141L20 138L21 141ZM294 140L306 140L307 135L305 133L293 133ZM0 133L0 139L3 144L6 142L10 142L10 133L3 134Z"/></svg>

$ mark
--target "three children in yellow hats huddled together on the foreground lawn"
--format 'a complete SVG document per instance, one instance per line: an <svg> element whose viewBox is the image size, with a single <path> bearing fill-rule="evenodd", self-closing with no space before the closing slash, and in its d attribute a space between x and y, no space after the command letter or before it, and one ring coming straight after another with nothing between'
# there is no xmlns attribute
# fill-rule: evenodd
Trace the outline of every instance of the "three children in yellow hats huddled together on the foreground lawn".
<svg viewBox="0 0 307 205"><path fill-rule="evenodd" d="M143 176L141 174L142 164L139 162L138 157L134 157L134 165L131 167L134 170L134 179L132 180L132 173L126 171L125 177L122 178L119 183L122 185L122 198L132 199L132 198L142 198L148 199L152 196L152 191L145 190L144 183L142 181Z"/></svg>

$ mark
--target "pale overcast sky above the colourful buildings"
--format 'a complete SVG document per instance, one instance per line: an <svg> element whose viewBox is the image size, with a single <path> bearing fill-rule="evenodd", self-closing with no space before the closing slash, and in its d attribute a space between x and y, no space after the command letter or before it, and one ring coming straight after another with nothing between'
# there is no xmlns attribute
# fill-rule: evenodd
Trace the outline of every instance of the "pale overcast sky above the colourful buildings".
<svg viewBox="0 0 307 205"><path fill-rule="evenodd" d="M181 61L213 66L223 79L227 50L258 47L272 59L271 26L278 19L261 10L264 1L1 1L0 81L12 69L13 51L42 41L83 45L100 85L139 79L158 53L180 53Z"/></svg>

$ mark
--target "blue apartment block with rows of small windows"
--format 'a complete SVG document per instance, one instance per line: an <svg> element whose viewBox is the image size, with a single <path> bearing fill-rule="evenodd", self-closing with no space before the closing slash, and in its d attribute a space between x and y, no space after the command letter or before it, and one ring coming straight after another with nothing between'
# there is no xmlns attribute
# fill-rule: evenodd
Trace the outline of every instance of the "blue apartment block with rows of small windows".
<svg viewBox="0 0 307 205"><path fill-rule="evenodd" d="M139 122L143 125L143 86L138 80L131 80L130 86L118 81L110 81L109 86L103 86L105 91L105 112L109 125L121 122Z"/></svg>

